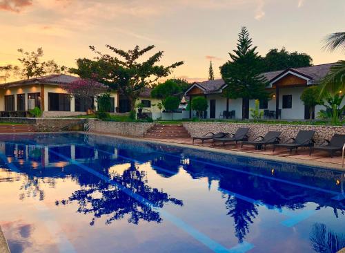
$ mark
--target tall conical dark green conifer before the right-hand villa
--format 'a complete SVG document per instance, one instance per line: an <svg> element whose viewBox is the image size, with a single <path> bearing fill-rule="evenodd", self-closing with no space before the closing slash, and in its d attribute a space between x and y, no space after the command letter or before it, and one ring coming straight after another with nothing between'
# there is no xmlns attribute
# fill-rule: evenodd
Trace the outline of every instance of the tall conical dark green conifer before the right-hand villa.
<svg viewBox="0 0 345 253"><path fill-rule="evenodd" d="M261 59L252 46L252 39L246 27L239 32L237 48L229 53L230 60L221 66L221 77L228 85L224 96L232 99L244 97L246 99L268 99L265 90L268 84L261 75Z"/></svg>

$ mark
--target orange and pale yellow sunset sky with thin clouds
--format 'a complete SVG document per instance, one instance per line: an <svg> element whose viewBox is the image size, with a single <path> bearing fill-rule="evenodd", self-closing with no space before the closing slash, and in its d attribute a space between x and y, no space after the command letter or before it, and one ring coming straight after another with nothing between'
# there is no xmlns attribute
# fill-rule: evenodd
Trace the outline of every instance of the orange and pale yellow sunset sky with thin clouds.
<svg viewBox="0 0 345 253"><path fill-rule="evenodd" d="M270 48L308 53L314 64L344 59L322 50L322 39L344 31L344 0L0 0L0 66L18 64L17 48L43 47L45 59L75 66L93 57L88 46L128 50L154 44L163 64L184 60L172 76L215 75L247 26L260 55Z"/></svg>

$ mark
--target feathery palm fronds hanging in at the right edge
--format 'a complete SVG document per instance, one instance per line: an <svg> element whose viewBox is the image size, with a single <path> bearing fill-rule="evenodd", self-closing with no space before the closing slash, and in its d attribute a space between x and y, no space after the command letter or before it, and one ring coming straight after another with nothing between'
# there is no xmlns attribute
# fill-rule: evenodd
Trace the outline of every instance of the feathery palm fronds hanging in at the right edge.
<svg viewBox="0 0 345 253"><path fill-rule="evenodd" d="M327 35L324 39L324 49L333 51L335 49L345 50L345 32L335 32ZM321 94L335 94L345 88L345 60L338 61L331 66L328 75L322 79Z"/></svg>

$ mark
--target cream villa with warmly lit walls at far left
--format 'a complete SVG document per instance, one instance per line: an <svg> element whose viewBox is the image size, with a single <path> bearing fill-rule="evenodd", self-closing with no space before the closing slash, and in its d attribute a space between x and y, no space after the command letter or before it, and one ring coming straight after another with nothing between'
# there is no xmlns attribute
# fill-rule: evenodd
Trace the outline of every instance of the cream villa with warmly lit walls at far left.
<svg viewBox="0 0 345 253"><path fill-rule="evenodd" d="M47 75L1 84L0 111L3 117L26 116L26 111L39 107L43 117L63 117L86 114L97 108L97 102L72 97L63 86L68 86L79 77L72 75ZM118 104L118 95L110 93L112 109ZM92 103L91 102L91 103Z"/></svg>

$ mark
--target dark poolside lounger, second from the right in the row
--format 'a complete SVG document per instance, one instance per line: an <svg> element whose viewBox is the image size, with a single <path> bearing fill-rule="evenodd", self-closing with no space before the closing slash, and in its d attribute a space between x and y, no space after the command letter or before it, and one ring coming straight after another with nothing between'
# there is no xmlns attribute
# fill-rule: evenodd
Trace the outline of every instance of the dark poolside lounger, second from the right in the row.
<svg viewBox="0 0 345 253"><path fill-rule="evenodd" d="M299 147L312 147L315 143L313 140L314 134L315 131L313 130L299 130L296 138L290 138L285 143L273 144L273 152L276 147L286 147L290 150L290 153L292 153L293 149L296 149L297 152ZM290 140L293 140L293 142L289 143Z"/></svg>

